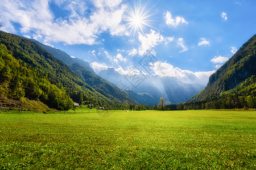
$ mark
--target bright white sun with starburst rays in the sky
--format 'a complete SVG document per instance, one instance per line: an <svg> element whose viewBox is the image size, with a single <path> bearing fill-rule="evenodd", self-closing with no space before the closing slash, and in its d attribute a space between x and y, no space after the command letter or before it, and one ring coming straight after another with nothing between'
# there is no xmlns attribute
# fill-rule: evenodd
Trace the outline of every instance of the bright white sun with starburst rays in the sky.
<svg viewBox="0 0 256 170"><path fill-rule="evenodd" d="M150 17L154 14L150 14L150 10L145 10L146 5L141 7L141 4L134 5L134 9L131 6L127 10L127 14L124 17L124 21L126 22L127 29L133 31L133 36L136 32L144 34L146 27L152 27L152 20Z"/></svg>

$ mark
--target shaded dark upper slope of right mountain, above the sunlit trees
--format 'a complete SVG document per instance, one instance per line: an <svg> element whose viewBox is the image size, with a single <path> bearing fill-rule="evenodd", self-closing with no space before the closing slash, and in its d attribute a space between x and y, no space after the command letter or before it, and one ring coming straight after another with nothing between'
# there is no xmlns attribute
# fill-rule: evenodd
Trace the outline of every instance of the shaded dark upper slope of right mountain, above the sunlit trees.
<svg viewBox="0 0 256 170"><path fill-rule="evenodd" d="M208 100L232 90L238 84L256 74L256 35L251 37L223 66L209 77L207 87L188 103Z"/></svg>

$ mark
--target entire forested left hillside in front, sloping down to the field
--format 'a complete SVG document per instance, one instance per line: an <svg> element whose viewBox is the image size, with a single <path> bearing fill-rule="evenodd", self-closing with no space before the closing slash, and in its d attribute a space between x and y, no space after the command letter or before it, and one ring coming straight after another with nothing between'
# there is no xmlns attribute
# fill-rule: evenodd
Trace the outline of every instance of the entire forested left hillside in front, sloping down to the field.
<svg viewBox="0 0 256 170"><path fill-rule="evenodd" d="M2 106L5 99L20 101L22 97L40 100L60 110L71 108L73 101L97 105L114 103L36 42L0 31L0 44Z"/></svg>

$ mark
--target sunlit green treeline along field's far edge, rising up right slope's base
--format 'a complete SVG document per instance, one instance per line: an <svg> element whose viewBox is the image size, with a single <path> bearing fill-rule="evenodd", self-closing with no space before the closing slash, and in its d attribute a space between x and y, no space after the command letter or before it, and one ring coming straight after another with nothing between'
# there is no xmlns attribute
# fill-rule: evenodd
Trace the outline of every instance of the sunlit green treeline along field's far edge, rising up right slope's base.
<svg viewBox="0 0 256 170"><path fill-rule="evenodd" d="M247 78L232 90L222 92L211 98L193 103L164 105L164 111L183 111L200 109L246 109L256 108L256 75ZM162 110L161 105L113 105L109 109L127 109L130 111Z"/></svg>

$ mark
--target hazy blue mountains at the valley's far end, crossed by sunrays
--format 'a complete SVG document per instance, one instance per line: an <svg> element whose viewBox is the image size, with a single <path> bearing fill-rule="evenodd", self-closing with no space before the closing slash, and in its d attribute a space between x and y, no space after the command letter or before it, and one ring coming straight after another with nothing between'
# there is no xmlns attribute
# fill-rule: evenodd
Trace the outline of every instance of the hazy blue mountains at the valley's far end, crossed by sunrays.
<svg viewBox="0 0 256 170"><path fill-rule="evenodd" d="M203 90L203 86L186 84L173 77L142 74L133 76L121 75L113 68L102 70L99 75L116 84L122 90L128 90L127 93L141 104L158 104L160 97L164 97L167 104L177 104L187 101L190 97ZM129 92L130 90L137 93L137 95ZM148 100L143 100L142 94Z"/></svg>

